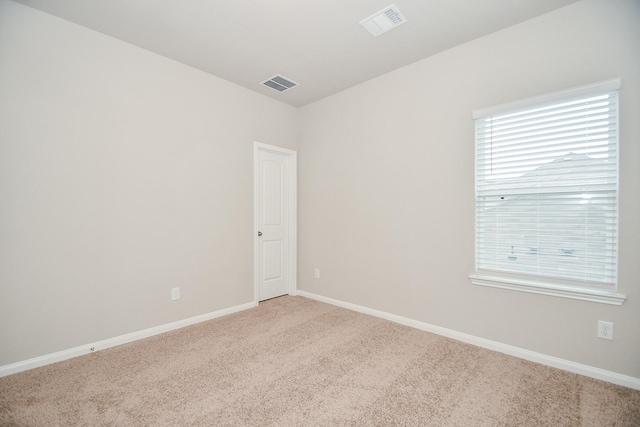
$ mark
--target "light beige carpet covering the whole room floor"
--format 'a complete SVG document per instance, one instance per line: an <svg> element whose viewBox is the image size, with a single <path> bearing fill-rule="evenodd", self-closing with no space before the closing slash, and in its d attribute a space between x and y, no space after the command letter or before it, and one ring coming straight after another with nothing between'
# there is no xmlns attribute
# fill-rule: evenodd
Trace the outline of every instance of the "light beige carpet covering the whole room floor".
<svg viewBox="0 0 640 427"><path fill-rule="evenodd" d="M640 426L640 391L302 297L0 378L2 426Z"/></svg>

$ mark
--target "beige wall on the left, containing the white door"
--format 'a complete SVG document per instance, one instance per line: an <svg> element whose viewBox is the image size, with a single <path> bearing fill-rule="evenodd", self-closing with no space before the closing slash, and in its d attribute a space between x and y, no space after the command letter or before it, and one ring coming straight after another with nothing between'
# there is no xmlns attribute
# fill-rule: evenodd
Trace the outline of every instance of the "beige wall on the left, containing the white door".
<svg viewBox="0 0 640 427"><path fill-rule="evenodd" d="M253 142L297 120L0 0L0 366L252 301Z"/></svg>

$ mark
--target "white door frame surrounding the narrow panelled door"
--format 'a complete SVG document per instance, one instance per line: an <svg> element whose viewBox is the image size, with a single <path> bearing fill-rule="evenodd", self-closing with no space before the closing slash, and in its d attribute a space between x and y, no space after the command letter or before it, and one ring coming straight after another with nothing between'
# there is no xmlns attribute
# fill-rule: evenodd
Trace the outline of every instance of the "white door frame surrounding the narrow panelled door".
<svg viewBox="0 0 640 427"><path fill-rule="evenodd" d="M297 230L298 230L298 216L297 216L297 164L298 154L287 148L276 147L273 145L263 144L261 142L253 143L253 300L255 305L258 305L258 286L260 279L258 277L258 152L270 151L277 154L284 154L288 159L289 176L286 177L289 180L290 195L289 206L287 206L289 212L289 295L296 295L297 293L297 263L298 263L298 248L296 242Z"/></svg>

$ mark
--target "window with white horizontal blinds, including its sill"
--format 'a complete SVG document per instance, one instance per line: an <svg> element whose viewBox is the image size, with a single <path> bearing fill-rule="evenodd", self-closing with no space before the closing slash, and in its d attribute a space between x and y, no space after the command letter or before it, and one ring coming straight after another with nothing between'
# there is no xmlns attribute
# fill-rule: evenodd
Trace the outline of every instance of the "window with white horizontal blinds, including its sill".
<svg viewBox="0 0 640 427"><path fill-rule="evenodd" d="M608 80L474 112L473 283L622 304L619 87Z"/></svg>

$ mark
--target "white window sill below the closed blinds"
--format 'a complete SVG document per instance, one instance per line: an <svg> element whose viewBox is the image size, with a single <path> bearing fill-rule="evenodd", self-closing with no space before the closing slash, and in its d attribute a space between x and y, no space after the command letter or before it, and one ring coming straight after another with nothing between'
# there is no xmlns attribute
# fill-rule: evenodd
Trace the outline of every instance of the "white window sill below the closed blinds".
<svg viewBox="0 0 640 427"><path fill-rule="evenodd" d="M626 296L615 292L586 289L573 286L554 285L533 280L522 280L485 274L469 275L471 283L492 288L509 289L512 291L530 292L534 294L550 295L561 298L579 299L602 304L622 305Z"/></svg>

